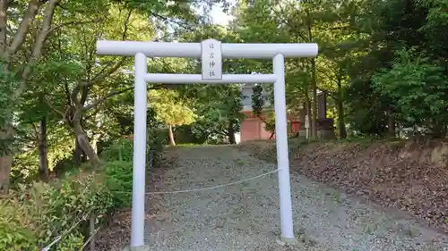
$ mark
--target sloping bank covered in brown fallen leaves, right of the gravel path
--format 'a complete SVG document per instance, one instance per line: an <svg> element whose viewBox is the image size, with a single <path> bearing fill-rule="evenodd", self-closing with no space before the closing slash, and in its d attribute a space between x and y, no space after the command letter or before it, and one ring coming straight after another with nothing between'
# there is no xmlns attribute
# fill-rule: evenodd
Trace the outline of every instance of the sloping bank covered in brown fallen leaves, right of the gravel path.
<svg viewBox="0 0 448 251"><path fill-rule="evenodd" d="M275 161L273 142L238 146ZM407 211L448 233L448 142L377 141L289 144L291 170Z"/></svg>

